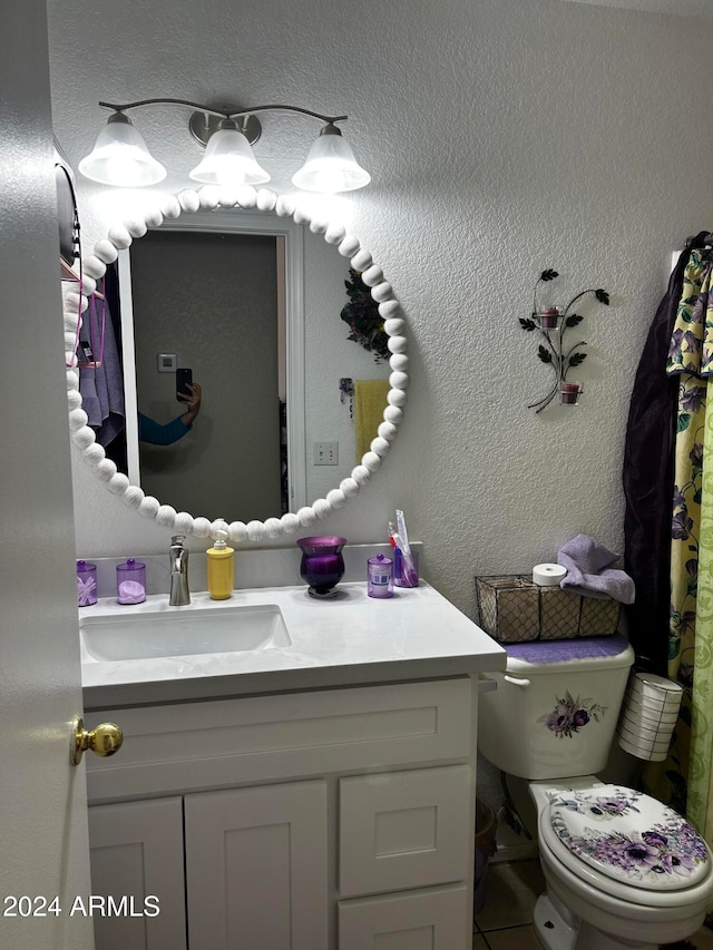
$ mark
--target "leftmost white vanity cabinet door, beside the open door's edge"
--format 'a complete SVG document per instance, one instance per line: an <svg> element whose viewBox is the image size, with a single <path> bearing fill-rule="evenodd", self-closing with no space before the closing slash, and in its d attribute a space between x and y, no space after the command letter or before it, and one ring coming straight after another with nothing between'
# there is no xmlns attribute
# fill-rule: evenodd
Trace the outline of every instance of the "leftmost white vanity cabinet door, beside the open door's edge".
<svg viewBox="0 0 713 950"><path fill-rule="evenodd" d="M185 950L180 799L90 807L89 849L97 950Z"/></svg>

